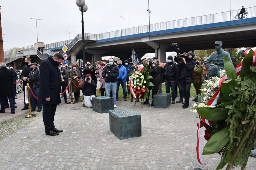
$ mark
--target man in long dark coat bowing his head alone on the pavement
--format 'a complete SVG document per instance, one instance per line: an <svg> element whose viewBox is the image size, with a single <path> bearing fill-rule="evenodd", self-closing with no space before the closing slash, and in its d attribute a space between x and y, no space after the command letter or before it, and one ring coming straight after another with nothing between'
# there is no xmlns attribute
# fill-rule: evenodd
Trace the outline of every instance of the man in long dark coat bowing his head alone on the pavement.
<svg viewBox="0 0 256 170"><path fill-rule="evenodd" d="M60 72L59 64L64 60L62 54L57 53L49 56L40 65L40 86L38 101L43 104L43 121L46 135L59 135L53 120L57 104L60 103Z"/></svg>

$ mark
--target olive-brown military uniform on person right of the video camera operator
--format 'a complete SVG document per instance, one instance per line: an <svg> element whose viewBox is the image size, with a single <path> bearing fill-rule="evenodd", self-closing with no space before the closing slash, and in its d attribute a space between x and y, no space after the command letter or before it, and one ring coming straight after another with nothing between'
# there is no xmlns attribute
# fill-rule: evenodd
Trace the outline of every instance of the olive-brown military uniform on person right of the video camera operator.
<svg viewBox="0 0 256 170"><path fill-rule="evenodd" d="M194 68L194 73L193 73L193 85L196 89L196 98L194 100L197 100L198 95L201 93L201 88L202 88L202 83L203 83L203 66L200 64Z"/></svg>

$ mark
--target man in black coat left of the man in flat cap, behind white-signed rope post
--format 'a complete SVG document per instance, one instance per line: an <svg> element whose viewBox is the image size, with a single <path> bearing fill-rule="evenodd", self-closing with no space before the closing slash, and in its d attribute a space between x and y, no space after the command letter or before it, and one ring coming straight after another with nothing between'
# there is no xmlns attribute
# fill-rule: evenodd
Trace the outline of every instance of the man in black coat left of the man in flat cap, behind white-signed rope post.
<svg viewBox="0 0 256 170"><path fill-rule="evenodd" d="M27 81L27 77L30 73L30 64L31 64L31 58L30 57L26 57L25 58L25 63L27 63L25 66L23 66L22 69L22 73L20 75L20 78L23 80L23 91L24 91L24 107L21 110L26 110L29 108L29 104L25 103L25 87L27 87L27 83L29 83L30 88L33 87L33 83L32 82L28 82Z"/></svg>

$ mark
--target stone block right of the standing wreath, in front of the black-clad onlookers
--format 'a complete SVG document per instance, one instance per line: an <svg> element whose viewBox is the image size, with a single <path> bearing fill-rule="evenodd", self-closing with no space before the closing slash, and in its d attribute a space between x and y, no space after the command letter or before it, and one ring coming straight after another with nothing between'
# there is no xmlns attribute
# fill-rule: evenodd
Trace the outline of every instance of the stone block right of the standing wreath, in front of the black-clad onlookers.
<svg viewBox="0 0 256 170"><path fill-rule="evenodd" d="M167 108L171 104L170 93L157 93L154 95L154 108Z"/></svg>

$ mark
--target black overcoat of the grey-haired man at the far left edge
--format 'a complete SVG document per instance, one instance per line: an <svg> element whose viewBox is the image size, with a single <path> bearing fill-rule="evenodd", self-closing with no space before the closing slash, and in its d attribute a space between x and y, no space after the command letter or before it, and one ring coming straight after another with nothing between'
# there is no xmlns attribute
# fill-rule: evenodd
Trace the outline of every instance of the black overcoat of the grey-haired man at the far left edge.
<svg viewBox="0 0 256 170"><path fill-rule="evenodd" d="M13 96L13 72L7 68L0 69L0 97Z"/></svg>

